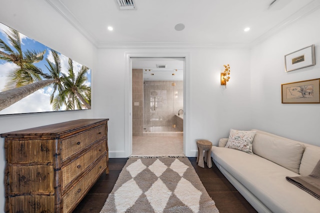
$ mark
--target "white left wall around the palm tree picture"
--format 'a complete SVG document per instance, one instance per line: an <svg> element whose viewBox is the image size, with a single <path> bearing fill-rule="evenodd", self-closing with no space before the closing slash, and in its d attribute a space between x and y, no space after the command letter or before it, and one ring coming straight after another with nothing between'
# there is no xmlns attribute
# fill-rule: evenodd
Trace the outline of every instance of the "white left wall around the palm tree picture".
<svg viewBox="0 0 320 213"><path fill-rule="evenodd" d="M17 6L18 5L18 6ZM96 48L44 0L2 0L0 22L86 65L96 78ZM95 86L92 85L92 95ZM0 133L93 116L91 110L0 116ZM4 211L4 140L0 138L0 212Z"/></svg>

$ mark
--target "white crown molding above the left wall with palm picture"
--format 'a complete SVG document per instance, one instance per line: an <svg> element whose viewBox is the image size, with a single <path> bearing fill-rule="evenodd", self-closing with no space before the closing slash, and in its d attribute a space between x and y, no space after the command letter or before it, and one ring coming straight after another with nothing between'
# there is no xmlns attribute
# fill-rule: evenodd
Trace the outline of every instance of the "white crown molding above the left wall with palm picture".
<svg viewBox="0 0 320 213"><path fill-rule="evenodd" d="M89 42L98 48L96 38L87 30L85 30L81 22L73 15L73 13L60 0L45 0L53 9L68 21L76 30L78 30Z"/></svg>

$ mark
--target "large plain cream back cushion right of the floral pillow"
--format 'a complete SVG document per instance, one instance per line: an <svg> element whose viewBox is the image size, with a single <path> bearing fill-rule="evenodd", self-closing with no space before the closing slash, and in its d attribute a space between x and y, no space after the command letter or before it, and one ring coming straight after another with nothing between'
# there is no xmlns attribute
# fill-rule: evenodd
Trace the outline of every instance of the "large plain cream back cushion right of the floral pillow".
<svg viewBox="0 0 320 213"><path fill-rule="evenodd" d="M299 173L304 146L292 140L256 133L252 152L292 172Z"/></svg>

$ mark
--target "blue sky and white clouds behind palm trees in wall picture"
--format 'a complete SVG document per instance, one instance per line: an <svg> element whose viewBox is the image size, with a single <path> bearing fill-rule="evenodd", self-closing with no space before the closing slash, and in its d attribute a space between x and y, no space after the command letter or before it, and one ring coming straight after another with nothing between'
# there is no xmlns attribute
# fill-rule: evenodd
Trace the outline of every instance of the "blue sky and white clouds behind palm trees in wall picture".
<svg viewBox="0 0 320 213"><path fill-rule="evenodd" d="M10 46L10 48L13 51L16 51L9 43L7 39L7 35L4 33L9 29L8 26L0 23L0 38ZM45 58L47 58L49 61L53 62L53 57L51 53L51 49L47 46L45 46L42 43L39 43L35 41L32 38L29 38L25 36L24 34L20 33L21 38L21 48L22 51L25 51L27 49L29 50L35 50L36 52L41 52L43 50L45 51L43 60L34 63L35 66L39 67L42 72L48 73L49 71L45 67L47 65L47 62ZM1 50L1 49L0 49ZM60 60L61 60L61 71L65 74L67 74L67 67L68 67L68 57L62 55L59 53ZM14 69L16 65L12 62L7 62L0 59L0 92L3 91L4 85L5 85L5 79L7 78L7 73L9 70ZM73 71L77 73L80 68L81 64L73 60ZM89 69L87 71L87 82L85 83L87 86L91 86L91 70ZM20 101L16 102L15 104L12 104L10 107L3 109L0 111L0 115L4 114L15 114L15 113L30 113L30 112L48 112L52 111L52 107L49 102L49 96L52 92L51 87L45 87L43 89L40 89L33 94L21 99ZM47 100L47 101L46 101ZM64 110L62 108L61 110Z"/></svg>

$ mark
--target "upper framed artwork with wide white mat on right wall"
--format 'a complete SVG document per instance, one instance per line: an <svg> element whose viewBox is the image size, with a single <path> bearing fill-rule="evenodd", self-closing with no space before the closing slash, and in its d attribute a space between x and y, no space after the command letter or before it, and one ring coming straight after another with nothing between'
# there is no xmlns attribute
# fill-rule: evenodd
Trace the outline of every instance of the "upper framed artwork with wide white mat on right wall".
<svg viewBox="0 0 320 213"><path fill-rule="evenodd" d="M284 55L286 72L315 65L314 44Z"/></svg>

